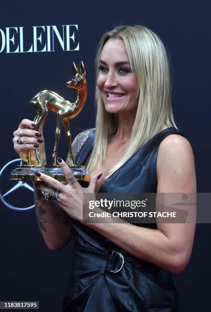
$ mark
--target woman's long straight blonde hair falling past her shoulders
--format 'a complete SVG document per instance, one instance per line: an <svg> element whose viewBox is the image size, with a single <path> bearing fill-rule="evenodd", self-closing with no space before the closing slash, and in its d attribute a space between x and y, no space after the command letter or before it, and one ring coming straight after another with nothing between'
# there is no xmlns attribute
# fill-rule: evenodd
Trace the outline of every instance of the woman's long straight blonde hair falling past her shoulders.
<svg viewBox="0 0 211 312"><path fill-rule="evenodd" d="M99 60L105 43L110 39L122 39L125 44L132 71L137 80L138 106L132 127L130 144L123 158L110 170L120 168L134 153L161 131L165 124L174 126L171 105L171 77L165 47L159 37L148 28L120 26L105 33L99 43L96 56L96 77ZM118 115L107 113L96 82L96 136L87 167L93 170L100 161L105 162L107 142L118 128ZM177 128L177 127L176 127Z"/></svg>

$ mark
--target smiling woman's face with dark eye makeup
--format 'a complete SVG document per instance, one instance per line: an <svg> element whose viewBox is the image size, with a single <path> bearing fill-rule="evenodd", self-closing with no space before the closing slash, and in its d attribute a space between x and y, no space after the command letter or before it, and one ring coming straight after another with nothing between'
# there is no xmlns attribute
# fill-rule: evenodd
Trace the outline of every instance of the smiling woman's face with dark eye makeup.
<svg viewBox="0 0 211 312"><path fill-rule="evenodd" d="M122 39L109 39L99 62L98 88L109 113L132 113L137 108L137 82Z"/></svg>

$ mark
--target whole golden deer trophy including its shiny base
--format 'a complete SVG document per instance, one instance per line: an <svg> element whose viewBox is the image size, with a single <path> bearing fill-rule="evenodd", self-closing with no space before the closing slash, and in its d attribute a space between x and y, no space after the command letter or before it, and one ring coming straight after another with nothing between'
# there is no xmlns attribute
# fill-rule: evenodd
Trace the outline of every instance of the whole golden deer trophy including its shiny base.
<svg viewBox="0 0 211 312"><path fill-rule="evenodd" d="M38 180L39 178L34 174L35 171L39 170L45 174L48 174L57 180L65 180L63 172L57 165L57 149L59 138L61 134L62 124L64 126L67 145L69 150L69 159L72 166L71 168L76 179L82 185L86 185L89 181L89 172L85 169L85 166L77 166L75 163L72 144L71 144L71 131L69 129L69 119L76 117L84 107L84 103L87 98L87 84L86 84L86 71L83 62L80 63L79 69L73 62L73 73L74 77L71 81L67 82L68 88L74 88L78 91L78 96L75 102L65 100L59 94L54 91L43 90L37 93L30 101L32 105L35 106L36 116L34 118L34 123L36 124L36 130L38 131L39 126L43 118L48 115L49 111L57 114L56 123L56 139L53 150L53 165L42 165L40 161L39 149L36 149L36 159L38 165L31 164L30 150L27 152L27 165L17 166L10 175L10 180L12 181L27 181L27 180Z"/></svg>

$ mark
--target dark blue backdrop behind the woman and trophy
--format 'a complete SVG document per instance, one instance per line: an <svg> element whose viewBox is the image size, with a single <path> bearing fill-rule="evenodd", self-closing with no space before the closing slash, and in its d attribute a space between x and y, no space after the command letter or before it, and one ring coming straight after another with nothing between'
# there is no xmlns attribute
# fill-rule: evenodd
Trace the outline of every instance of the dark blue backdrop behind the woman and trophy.
<svg viewBox="0 0 211 312"><path fill-rule="evenodd" d="M14 35L14 44L10 40L10 49L16 49L18 43L20 49L19 27L24 27L25 50L32 44L32 27L35 26L45 26L43 31L37 28L37 37L42 32L42 44L36 41L38 49L44 47L47 25L56 25L60 33L62 25L78 25L78 31L75 28L75 43L72 39L69 41L71 48L75 49L79 42L79 50L63 51L55 39L54 52L6 53L5 46L0 53L1 168L17 158L12 134L22 118L34 118L34 108L29 105L34 94L50 89L65 98L75 98L74 90L65 87L65 82L72 76L72 61L84 61L88 81L88 99L84 110L70 122L73 137L81 129L93 126L94 57L99 39L114 25L143 24L160 36L169 51L175 119L193 146L198 192L210 192L210 9L209 1L193 0L1 2L0 50L4 47L7 32L9 38ZM6 31L9 27L17 27L17 31ZM70 36L73 35L73 27L71 32ZM56 120L54 114L50 115L44 130L49 160ZM66 152L63 137L58 154L64 158ZM1 194L14 185L8 179L8 172L1 177ZM33 204L33 194L27 190L18 189L5 199L16 206ZM71 261L70 246L57 252L48 250L39 233L33 209L16 212L2 202L0 204L0 300L37 300L40 311L59 312ZM210 235L209 224L197 226L190 263L184 272L174 276L182 312L210 311Z"/></svg>

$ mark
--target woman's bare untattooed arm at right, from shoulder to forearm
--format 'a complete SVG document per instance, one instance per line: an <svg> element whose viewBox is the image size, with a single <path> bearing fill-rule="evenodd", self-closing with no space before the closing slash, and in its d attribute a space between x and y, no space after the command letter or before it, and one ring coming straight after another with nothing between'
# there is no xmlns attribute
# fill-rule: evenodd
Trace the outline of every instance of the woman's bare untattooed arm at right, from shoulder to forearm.
<svg viewBox="0 0 211 312"><path fill-rule="evenodd" d="M157 157L157 180L158 193L196 193L194 157L185 138L170 135L162 141ZM128 223L85 224L132 255L173 273L180 273L191 255L194 223L158 223L157 229Z"/></svg>

